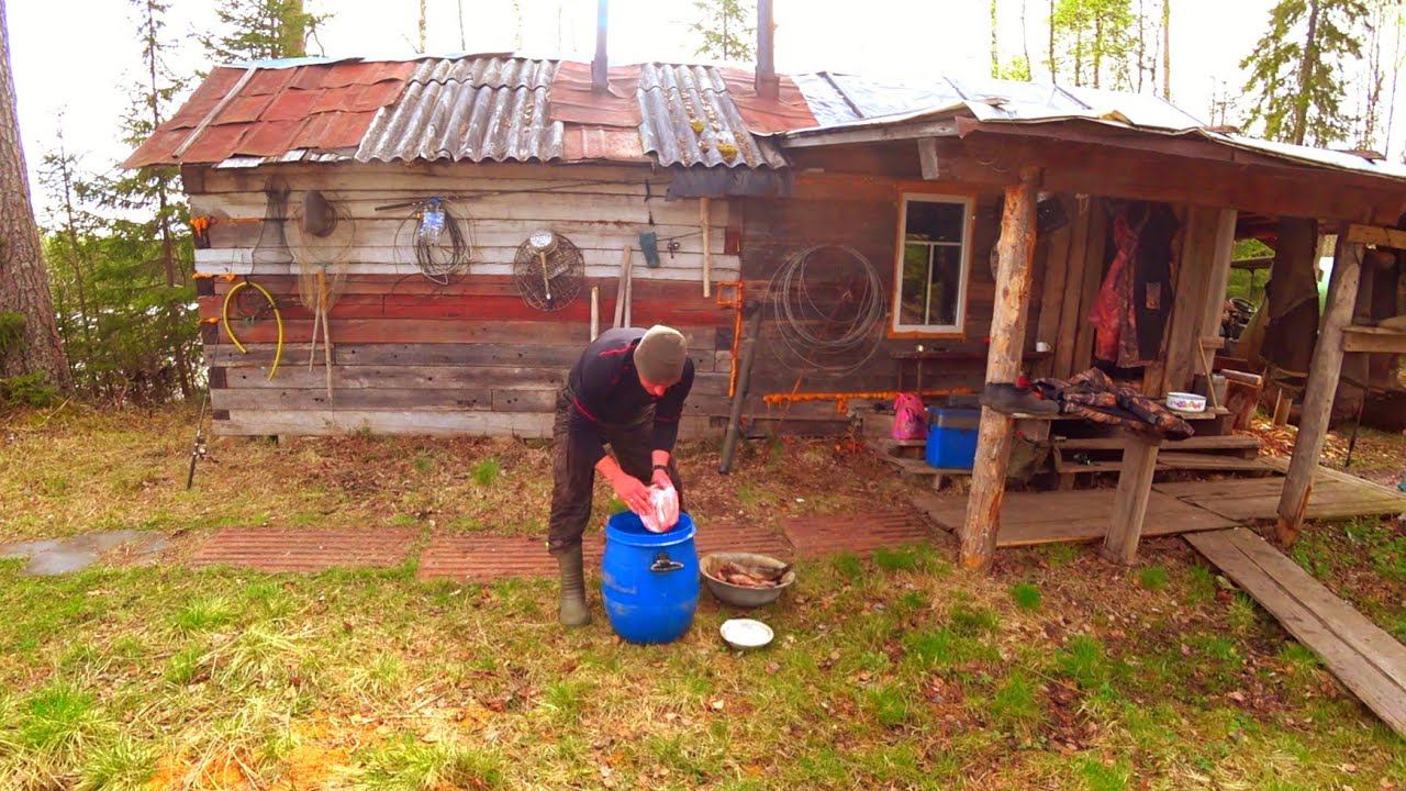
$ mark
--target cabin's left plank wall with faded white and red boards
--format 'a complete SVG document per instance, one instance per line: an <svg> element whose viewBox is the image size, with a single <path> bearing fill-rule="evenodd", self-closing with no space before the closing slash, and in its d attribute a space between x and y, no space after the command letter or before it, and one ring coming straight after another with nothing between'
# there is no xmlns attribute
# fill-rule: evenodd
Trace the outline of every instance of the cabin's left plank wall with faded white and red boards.
<svg viewBox="0 0 1406 791"><path fill-rule="evenodd" d="M259 241L262 190L273 175L291 189L291 205L318 189L354 221L344 289L330 312L330 398L321 338L312 370L308 366L314 321L297 296L297 266L270 263L280 251L267 235L263 245ZM609 328L627 245L636 248L633 324L669 324L689 339L697 376L683 432L709 431L710 417L727 414L733 311L703 297L697 201L665 201L666 173L647 166L418 163L205 169L184 176L191 214L217 218L211 248L197 251L197 270L217 276L201 287L201 319L218 319L229 289L245 277L276 296L284 319L284 356L273 380L271 318L235 319L247 353L235 348L225 325L202 325L217 434L550 435L557 390L589 342L591 289L600 290L602 329ZM471 224L475 253L467 274L441 286L405 263L411 210L375 207L450 194L465 196L451 210ZM737 224L728 201L713 201L711 222L714 281L737 280L738 256L723 252L725 229ZM575 242L586 263L576 300L555 312L523 303L510 274L517 245L540 227ZM644 231L661 238L657 269L647 267L638 251ZM285 234L290 243L301 242L292 224ZM673 255L666 249L671 236L679 242ZM311 243L307 249L326 255Z"/></svg>

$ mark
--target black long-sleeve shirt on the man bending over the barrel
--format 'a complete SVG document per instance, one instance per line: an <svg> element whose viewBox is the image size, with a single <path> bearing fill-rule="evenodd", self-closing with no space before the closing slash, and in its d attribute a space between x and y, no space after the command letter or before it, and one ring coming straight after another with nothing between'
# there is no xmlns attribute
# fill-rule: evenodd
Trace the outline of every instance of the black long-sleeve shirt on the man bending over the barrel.
<svg viewBox="0 0 1406 791"><path fill-rule="evenodd" d="M595 453L592 463L606 455L602 428L636 424L650 407L654 407L652 449L672 453L679 438L683 400L693 388L693 360L685 359L683 379L655 398L645 393L634 367L634 349L641 338L644 329L637 327L606 329L586 346L567 377L571 436Z"/></svg>

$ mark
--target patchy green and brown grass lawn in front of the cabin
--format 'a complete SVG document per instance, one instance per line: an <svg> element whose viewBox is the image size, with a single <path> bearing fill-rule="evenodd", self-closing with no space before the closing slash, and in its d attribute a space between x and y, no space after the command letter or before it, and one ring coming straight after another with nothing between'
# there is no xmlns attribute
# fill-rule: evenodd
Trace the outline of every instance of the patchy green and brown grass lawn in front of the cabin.
<svg viewBox="0 0 1406 791"><path fill-rule="evenodd" d="M531 443L218 443L187 494L188 414L44 421L0 425L3 539L541 529ZM713 459L683 453L700 519L905 494L834 443L754 443L731 480ZM1353 545L1376 548L1362 559L1400 540L1379 529ZM1306 562L1329 555L1403 598L1400 548L1353 563L1340 533L1310 528L1301 546L1326 549ZM685 640L637 647L598 593L592 626L560 629L550 580L179 564L32 578L0 563L0 787L1406 788L1406 742L1180 539L1144 543L1132 570L1053 546L974 576L952 555L801 563L762 615L778 642L748 654L717 639L731 614L706 594Z"/></svg>

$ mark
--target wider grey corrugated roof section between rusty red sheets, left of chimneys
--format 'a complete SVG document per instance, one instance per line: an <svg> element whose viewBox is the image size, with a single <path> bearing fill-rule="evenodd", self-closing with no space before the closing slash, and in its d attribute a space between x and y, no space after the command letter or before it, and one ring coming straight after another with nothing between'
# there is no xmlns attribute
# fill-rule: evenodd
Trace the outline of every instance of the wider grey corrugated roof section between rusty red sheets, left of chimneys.
<svg viewBox="0 0 1406 791"><path fill-rule="evenodd" d="M527 58L423 61L401 100L375 114L356 159L561 159L562 124L547 113L555 73L554 61Z"/></svg>

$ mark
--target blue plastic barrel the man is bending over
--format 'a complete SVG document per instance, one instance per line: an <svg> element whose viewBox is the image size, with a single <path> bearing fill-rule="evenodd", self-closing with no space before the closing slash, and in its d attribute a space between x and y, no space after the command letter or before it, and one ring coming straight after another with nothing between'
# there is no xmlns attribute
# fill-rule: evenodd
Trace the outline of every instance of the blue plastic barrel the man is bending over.
<svg viewBox="0 0 1406 791"><path fill-rule="evenodd" d="M624 511L606 522L600 595L610 628L631 643L672 643L693 625L699 605L699 555L693 519L679 514L666 533L651 533Z"/></svg>

